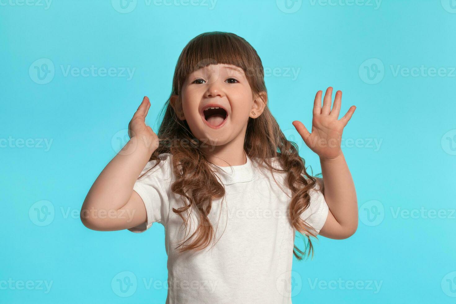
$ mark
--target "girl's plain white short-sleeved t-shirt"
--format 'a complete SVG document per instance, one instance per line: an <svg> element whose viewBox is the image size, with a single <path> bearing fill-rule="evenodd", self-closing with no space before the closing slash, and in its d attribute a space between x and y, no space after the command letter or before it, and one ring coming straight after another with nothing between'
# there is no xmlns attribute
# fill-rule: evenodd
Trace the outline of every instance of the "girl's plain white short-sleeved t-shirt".
<svg viewBox="0 0 456 304"><path fill-rule="evenodd" d="M285 193L275 183L277 180L285 185L285 174L274 173L274 180L267 168L260 170L249 156L244 165L214 165L214 170L221 169L216 175L226 190L224 199L212 200L208 215L215 240L202 251L180 253L175 248L195 232L199 219L197 212L192 212L191 227L185 229L181 217L172 211L183 206L180 195L170 189L176 178L172 174L172 155L159 156L164 159L133 188L144 201L147 222L129 230L144 232L154 222L165 227L166 304L290 304L295 240L288 216L291 191L282 186ZM273 165L279 164L275 160ZM141 175L155 163L148 162ZM310 191L311 205L302 218L320 233L329 208L321 191L316 190ZM187 213L182 216L187 218ZM298 247L303 249L304 242Z"/></svg>

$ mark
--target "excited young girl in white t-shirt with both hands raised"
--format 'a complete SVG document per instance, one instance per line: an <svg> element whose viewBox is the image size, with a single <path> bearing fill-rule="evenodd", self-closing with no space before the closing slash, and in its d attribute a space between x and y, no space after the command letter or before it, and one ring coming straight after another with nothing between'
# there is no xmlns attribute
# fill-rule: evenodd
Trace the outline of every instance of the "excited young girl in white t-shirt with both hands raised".
<svg viewBox="0 0 456 304"><path fill-rule="evenodd" d="M254 48L232 33L195 37L178 59L158 136L145 124L145 97L130 141L93 183L81 220L98 231L144 232L161 223L166 303L291 303L293 254L305 253L295 232L307 237L313 257L311 236L343 239L358 227L340 144L355 107L338 120L342 92L332 109L332 88L322 107L321 93L312 133L293 121L320 157L317 181L269 111Z"/></svg>

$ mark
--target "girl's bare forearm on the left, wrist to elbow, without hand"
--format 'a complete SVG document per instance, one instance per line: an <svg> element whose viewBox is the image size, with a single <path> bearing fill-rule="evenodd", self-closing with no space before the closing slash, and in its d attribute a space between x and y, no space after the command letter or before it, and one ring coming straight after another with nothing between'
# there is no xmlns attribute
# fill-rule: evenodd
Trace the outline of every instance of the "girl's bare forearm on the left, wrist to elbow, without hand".
<svg viewBox="0 0 456 304"><path fill-rule="evenodd" d="M133 186L154 152L145 136L132 137L101 171L84 200L85 210L118 210L130 199Z"/></svg>

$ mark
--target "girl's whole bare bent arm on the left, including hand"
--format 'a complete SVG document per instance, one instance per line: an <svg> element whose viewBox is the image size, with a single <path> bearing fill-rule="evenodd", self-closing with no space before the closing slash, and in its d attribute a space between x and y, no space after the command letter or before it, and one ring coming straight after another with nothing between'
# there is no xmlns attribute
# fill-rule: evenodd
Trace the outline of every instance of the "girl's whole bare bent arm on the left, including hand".
<svg viewBox="0 0 456 304"><path fill-rule="evenodd" d="M149 108L149 98L144 97L128 124L130 140L101 171L88 191L80 215L85 227L114 231L146 222L145 204L133 187L159 144L158 136L145 124Z"/></svg>

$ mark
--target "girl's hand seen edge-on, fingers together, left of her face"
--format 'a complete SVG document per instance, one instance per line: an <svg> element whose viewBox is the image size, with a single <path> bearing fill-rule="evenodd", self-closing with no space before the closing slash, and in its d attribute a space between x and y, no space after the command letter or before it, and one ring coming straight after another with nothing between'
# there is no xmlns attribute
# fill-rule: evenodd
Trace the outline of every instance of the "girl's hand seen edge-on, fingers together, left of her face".
<svg viewBox="0 0 456 304"><path fill-rule="evenodd" d="M150 101L149 98L145 96L128 124L128 136L130 136L130 139L133 136L136 136L138 138L148 139L150 143L158 143L157 134L152 131L152 128L145 124L145 117L149 112L149 108Z"/></svg>

